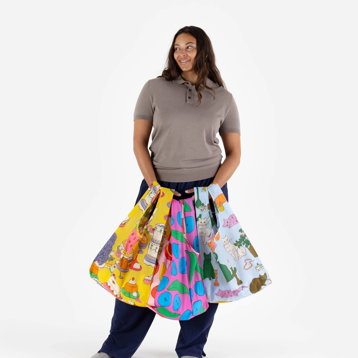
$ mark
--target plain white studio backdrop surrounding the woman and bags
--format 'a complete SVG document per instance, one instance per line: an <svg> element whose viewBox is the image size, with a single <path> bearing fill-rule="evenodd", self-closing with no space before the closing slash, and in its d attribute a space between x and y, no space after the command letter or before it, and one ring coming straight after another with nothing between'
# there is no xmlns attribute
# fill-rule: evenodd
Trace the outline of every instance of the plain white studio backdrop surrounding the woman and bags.
<svg viewBox="0 0 358 358"><path fill-rule="evenodd" d="M135 102L176 31L195 25L240 113L229 201L272 279L219 305L207 357L348 357L354 3L1 1L1 355L89 358L107 338L115 298L88 270L143 178ZM157 315L134 357L176 358L178 333L178 321Z"/></svg>

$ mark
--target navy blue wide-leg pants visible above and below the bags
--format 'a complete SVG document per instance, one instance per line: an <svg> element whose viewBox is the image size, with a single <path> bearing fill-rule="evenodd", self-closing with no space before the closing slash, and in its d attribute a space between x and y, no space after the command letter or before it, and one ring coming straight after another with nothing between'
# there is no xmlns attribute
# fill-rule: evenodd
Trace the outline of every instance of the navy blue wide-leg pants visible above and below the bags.
<svg viewBox="0 0 358 358"><path fill-rule="evenodd" d="M164 188L174 189L181 196L173 195L176 200L190 198L194 193L185 193L185 190L194 187L206 187L211 184L214 177L195 180L194 182L157 182ZM145 179L142 180L140 190L134 206L148 189ZM227 201L227 183L221 188ZM216 220L214 205L211 205L213 218ZM218 308L218 303L209 303L209 308L202 314L199 314L189 320L179 321L180 332L176 343L175 352L178 358L184 355L202 358L203 347L207 342L209 330L213 324L214 314ZM110 334L103 343L98 352L105 352L115 358L131 358L136 352L144 337L146 336L150 325L152 324L156 313L146 307L129 305L121 300L115 300L113 318L111 322ZM140 329L138 329L140 327Z"/></svg>

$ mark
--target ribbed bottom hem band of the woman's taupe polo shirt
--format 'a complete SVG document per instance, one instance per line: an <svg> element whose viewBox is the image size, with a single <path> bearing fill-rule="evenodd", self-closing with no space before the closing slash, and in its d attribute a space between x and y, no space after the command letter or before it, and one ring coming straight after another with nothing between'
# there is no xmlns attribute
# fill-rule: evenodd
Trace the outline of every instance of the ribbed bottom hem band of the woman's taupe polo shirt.
<svg viewBox="0 0 358 358"><path fill-rule="evenodd" d="M154 166L153 169L157 180L161 180L163 182L182 183L182 182L194 182L195 180L211 178L216 175L220 166L221 166L221 160L204 169L197 169L197 168L159 169L159 168L155 168Z"/></svg>

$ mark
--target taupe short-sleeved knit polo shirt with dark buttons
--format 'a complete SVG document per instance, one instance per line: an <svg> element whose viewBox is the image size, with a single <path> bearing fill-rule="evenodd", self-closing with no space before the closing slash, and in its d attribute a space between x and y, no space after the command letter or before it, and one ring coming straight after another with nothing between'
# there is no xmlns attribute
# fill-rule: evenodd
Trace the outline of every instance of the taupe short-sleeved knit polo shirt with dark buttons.
<svg viewBox="0 0 358 358"><path fill-rule="evenodd" d="M193 182L215 176L221 165L216 134L240 133L240 119L232 94L207 78L197 105L195 85L178 76L149 79L143 86L134 120L153 122L151 151L157 180Z"/></svg>

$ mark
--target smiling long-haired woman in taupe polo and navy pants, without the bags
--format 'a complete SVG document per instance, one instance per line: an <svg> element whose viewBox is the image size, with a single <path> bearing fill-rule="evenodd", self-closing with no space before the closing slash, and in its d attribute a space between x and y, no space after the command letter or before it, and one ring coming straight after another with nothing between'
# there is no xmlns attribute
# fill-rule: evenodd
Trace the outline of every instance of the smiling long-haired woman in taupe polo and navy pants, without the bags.
<svg viewBox="0 0 358 358"><path fill-rule="evenodd" d="M144 176L135 205L154 181L174 189L176 200L194 200L194 187L215 181L228 200L227 180L240 164L240 120L232 94L223 87L211 41L202 29L185 26L175 34L167 61L162 75L145 83L134 110L134 153ZM223 163L217 132L226 154ZM215 219L214 205L211 209ZM217 306L209 303L204 313L179 320L179 358L205 356ZM115 300L110 334L92 358L132 357L155 315Z"/></svg>

